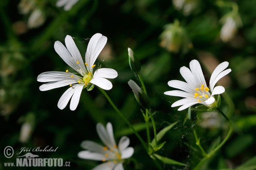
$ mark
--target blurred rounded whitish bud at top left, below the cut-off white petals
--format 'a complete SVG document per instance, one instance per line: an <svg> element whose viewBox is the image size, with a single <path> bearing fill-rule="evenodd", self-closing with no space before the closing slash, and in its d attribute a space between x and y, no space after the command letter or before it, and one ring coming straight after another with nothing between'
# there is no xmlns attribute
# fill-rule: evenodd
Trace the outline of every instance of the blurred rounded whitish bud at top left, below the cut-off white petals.
<svg viewBox="0 0 256 170"><path fill-rule="evenodd" d="M37 28L44 24L45 15L41 9L35 9L29 16L28 28Z"/></svg>

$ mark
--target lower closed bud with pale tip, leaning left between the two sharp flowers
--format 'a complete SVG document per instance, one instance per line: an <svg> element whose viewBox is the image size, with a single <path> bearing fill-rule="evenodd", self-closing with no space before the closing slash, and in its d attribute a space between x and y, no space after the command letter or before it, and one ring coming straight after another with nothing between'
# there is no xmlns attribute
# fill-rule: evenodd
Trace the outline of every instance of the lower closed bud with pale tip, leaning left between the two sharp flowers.
<svg viewBox="0 0 256 170"><path fill-rule="evenodd" d="M145 94L145 92L134 82L133 80L128 81L128 85L134 92L135 99L143 108L149 108L150 101L148 99L148 96Z"/></svg>

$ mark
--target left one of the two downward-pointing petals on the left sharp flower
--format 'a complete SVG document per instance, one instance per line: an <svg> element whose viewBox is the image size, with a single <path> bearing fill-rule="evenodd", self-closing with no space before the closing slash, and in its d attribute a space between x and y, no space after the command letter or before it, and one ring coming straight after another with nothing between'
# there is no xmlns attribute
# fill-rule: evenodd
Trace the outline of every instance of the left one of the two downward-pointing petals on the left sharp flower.
<svg viewBox="0 0 256 170"><path fill-rule="evenodd" d="M58 101L58 108L59 109L64 109L67 106L67 103L69 102L70 98L73 96L74 93L76 93L76 91L80 91L80 87L81 85L77 84L77 85L73 85L72 87L68 88L67 91L64 92L64 94L62 94L61 98ZM80 91L81 93L81 91Z"/></svg>

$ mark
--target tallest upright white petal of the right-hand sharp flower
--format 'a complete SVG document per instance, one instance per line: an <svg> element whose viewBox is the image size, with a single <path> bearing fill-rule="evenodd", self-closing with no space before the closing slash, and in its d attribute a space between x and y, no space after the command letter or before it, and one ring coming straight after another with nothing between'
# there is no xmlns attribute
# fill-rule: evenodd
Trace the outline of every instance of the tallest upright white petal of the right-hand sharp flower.
<svg viewBox="0 0 256 170"><path fill-rule="evenodd" d="M189 67L194 75L195 79L201 84L203 84L205 87L207 87L205 79L204 79L204 74L201 68L201 65L199 64L198 60L193 59L191 62L189 62ZM199 84L199 85L201 85Z"/></svg>

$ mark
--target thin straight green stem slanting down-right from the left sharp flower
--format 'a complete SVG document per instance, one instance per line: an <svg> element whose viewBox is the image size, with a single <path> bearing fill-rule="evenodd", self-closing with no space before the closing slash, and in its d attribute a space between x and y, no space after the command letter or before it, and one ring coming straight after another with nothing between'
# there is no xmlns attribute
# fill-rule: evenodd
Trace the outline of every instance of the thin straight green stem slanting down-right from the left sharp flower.
<svg viewBox="0 0 256 170"><path fill-rule="evenodd" d="M128 119L126 119L126 117L119 111L118 108L116 108L116 105L112 102L112 100L110 99L110 97L108 96L108 94L102 89L99 88L99 90L102 92L102 94L104 94L104 96L108 99L108 102L112 105L112 107L115 109L115 111L119 114L119 116L125 121L125 123L134 131L135 135L137 136L137 138L140 140L140 142L142 143L143 147L145 148L145 150L148 152L148 148L145 144L145 142L143 141L143 139L140 137L140 135L137 133L137 131L134 129L134 127L131 125L131 123L128 121Z"/></svg>

